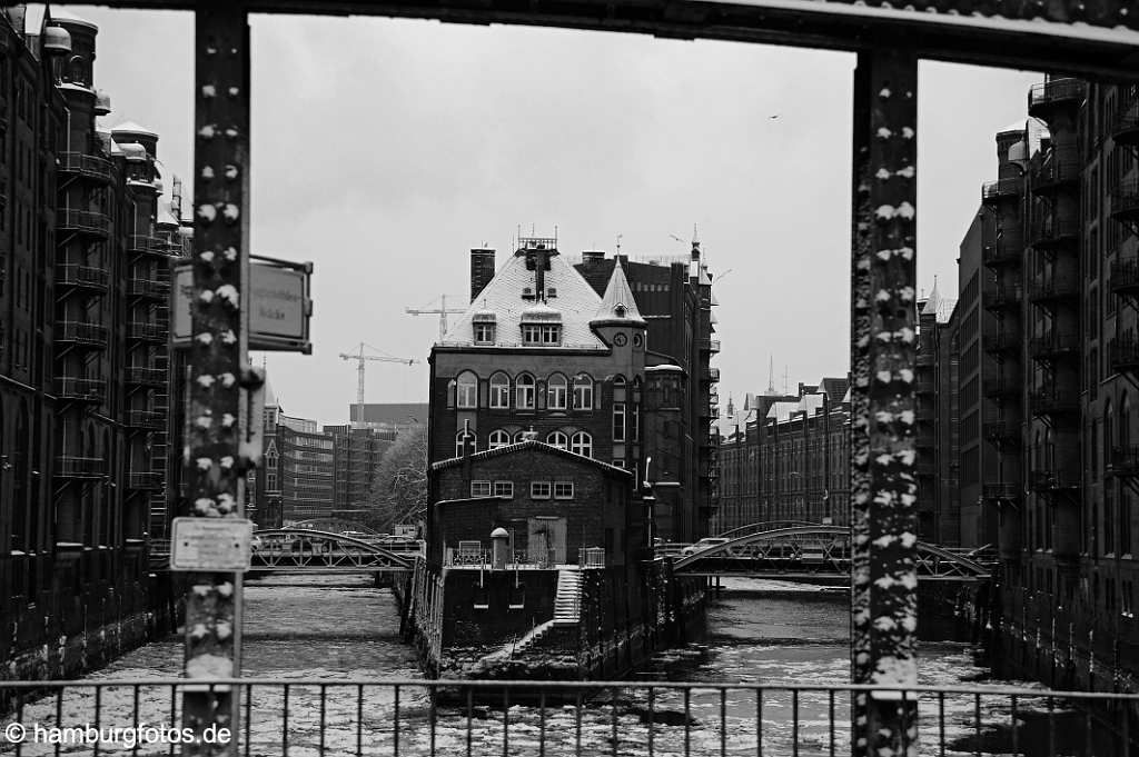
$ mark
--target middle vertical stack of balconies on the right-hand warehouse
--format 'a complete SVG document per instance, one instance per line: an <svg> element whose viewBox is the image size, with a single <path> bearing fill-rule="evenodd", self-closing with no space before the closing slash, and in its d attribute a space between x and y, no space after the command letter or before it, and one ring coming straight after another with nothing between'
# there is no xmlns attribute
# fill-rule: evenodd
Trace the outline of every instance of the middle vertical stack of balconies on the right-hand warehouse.
<svg viewBox="0 0 1139 757"><path fill-rule="evenodd" d="M1051 508L1050 546L1059 560L1071 560L1080 552L1082 164L1076 118L1085 96L1087 84L1076 79L1049 77L1029 92L1030 115L1047 122L1051 135L1047 150L1032 159L1030 170L1035 196L1031 238L1035 265L1029 286L1035 328L1030 356L1038 370L1029 408L1042 423L1036 431L1043 441L1043 460L1036 458L1029 483L1038 502Z"/></svg>

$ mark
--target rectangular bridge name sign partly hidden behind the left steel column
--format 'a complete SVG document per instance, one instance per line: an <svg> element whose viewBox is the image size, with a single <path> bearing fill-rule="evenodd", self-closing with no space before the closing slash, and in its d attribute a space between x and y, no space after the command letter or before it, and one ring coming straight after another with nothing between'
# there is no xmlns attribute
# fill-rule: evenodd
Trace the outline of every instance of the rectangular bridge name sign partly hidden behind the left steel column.
<svg viewBox="0 0 1139 757"><path fill-rule="evenodd" d="M309 320L312 316L312 263L292 263L253 255L249 263L249 349L312 353ZM171 337L175 346L190 343L190 302L194 269L174 266L174 303Z"/></svg>

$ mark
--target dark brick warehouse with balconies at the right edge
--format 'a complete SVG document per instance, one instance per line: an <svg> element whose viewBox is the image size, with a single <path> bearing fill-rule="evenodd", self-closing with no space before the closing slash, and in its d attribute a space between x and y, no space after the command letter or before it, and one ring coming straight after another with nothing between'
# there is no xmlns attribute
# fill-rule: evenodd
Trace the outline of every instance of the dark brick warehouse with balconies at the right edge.
<svg viewBox="0 0 1139 757"><path fill-rule="evenodd" d="M1050 76L1027 116L997 134L952 316L923 326L939 507L999 550L1009 673L1134 691L1139 89Z"/></svg>

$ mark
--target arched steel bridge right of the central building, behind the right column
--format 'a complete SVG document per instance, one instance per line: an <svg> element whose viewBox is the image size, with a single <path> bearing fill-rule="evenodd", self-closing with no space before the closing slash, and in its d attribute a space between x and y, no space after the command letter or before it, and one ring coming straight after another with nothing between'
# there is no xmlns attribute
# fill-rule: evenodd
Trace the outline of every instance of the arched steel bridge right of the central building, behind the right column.
<svg viewBox="0 0 1139 757"><path fill-rule="evenodd" d="M918 542L918 577L988 578L990 569L944 548ZM739 536L677 560L677 573L845 575L851 569L850 528L789 526Z"/></svg>

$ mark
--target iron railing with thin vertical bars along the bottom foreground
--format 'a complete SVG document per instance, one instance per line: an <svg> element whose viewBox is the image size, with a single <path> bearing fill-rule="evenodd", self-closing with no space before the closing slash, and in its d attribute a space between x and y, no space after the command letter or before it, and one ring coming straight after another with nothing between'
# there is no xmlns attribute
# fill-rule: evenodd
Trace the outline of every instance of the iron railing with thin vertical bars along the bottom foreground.
<svg viewBox="0 0 1139 757"><path fill-rule="evenodd" d="M424 581L429 585L429 581ZM425 595L425 599L429 596ZM173 755L189 685L236 694L213 731L235 755L839 755L878 741L858 701L890 701L916 730L902 754L1098 755L1136 748L1139 696L999 686L460 680L3 682L6 751ZM912 718L912 719L910 719ZM916 723L913 723L916 719ZM854 725L852 725L854 722ZM877 729L878 725L872 727ZM64 731L68 729L69 731ZM917 734L917 743L909 742ZM177 734L177 735L175 735ZM99 743L96 744L95 742ZM99 749L101 748L101 751ZM878 750L874 750L879 754ZM60 754L56 751L56 754Z"/></svg>

